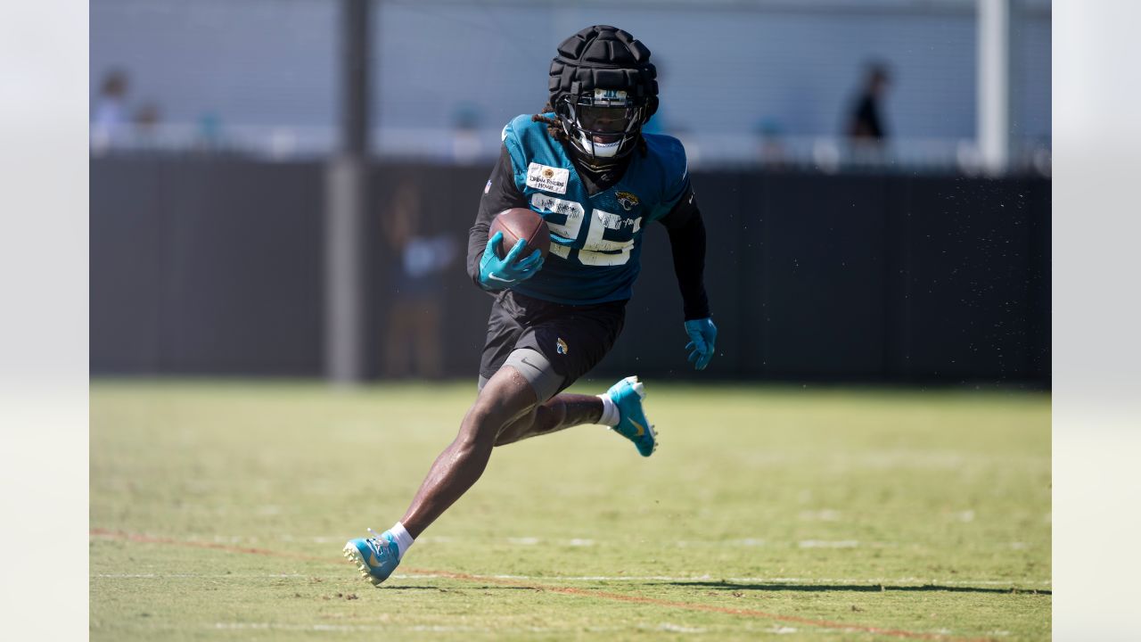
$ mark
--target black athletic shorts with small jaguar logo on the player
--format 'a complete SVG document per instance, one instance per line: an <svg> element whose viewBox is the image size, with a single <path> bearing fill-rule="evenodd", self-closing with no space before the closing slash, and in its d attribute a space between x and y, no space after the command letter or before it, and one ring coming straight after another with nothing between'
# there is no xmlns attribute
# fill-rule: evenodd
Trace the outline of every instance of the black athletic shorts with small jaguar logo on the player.
<svg viewBox="0 0 1141 642"><path fill-rule="evenodd" d="M512 351L531 348L563 377L561 392L610 352L625 318L625 300L565 305L503 290L487 319L479 376L491 379Z"/></svg>

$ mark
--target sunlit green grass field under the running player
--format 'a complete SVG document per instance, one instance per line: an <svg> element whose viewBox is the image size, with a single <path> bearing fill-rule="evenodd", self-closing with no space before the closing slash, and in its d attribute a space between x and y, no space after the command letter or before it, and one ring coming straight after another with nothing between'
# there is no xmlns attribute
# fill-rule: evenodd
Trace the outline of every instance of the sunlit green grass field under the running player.
<svg viewBox="0 0 1141 642"><path fill-rule="evenodd" d="M598 392L601 384L578 392ZM92 640L1042 640L1050 398L648 382L497 449L373 588L474 385L96 382Z"/></svg>

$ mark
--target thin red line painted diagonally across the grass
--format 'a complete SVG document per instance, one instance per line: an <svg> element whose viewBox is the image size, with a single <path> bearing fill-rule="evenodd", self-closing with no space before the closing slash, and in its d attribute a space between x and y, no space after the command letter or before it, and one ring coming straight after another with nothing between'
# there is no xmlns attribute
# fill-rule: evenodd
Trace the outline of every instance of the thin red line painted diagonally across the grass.
<svg viewBox="0 0 1141 642"><path fill-rule="evenodd" d="M169 537L155 537L149 535L139 535L132 532L114 531L106 529L91 529L92 537L103 537L106 539L118 539L122 541L138 541L143 544L170 544L173 546L186 546L191 548L211 548L215 551L226 551L228 553L246 553L251 555L266 555L272 557L286 557L291 560L306 560L310 562L329 562L334 563L331 557L318 557L315 555L302 555L299 553L285 553L281 551L272 551L269 548L252 548L246 546L230 546L227 544L218 544L213 541L191 541L183 539L171 539ZM783 621L790 624L801 624L808 626L816 626L820 628L833 628L837 631L856 632L856 633L871 633L873 635L888 635L891 637L906 637L912 640L945 640L947 642L981 642L987 639L969 639L969 637L950 637L947 635L939 635L936 633L920 633L915 631L901 631L897 628L880 628L876 626L864 626L858 624L843 624L839 621L823 620L823 619L811 619L802 618L798 616L783 616L779 613L770 613L767 611L758 611L754 609L734 609L729 607L714 607L711 604L693 604L689 602L673 602L671 600L658 600L656 597L641 597L638 595L623 595L621 593L607 593L605 591L594 591L591 588L570 588L563 586L550 586L547 584L534 584L534 583L520 583L513 579L504 579L496 577L484 577L478 575L460 573L460 572L448 572L448 571L430 571L424 569L410 569L400 567L402 572L413 573L413 575L434 575L439 577L446 577L448 579L459 579L463 581L478 581L483 584L497 584L501 586L510 586L512 588L532 588L535 591L547 591L550 593L561 593L564 595L578 595L583 597L598 597L602 600L612 600L616 602L633 602L637 604L650 604L654 607L667 607L671 609L683 609L687 611L706 611L713 613L726 613L730 616L741 616L759 619L770 619L775 621Z"/></svg>

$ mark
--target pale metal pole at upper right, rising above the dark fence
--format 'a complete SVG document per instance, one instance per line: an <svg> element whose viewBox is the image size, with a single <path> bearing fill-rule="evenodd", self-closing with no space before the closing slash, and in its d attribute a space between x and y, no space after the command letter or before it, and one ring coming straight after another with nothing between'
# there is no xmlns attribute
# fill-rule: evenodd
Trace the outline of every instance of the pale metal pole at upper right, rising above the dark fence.
<svg viewBox="0 0 1141 642"><path fill-rule="evenodd" d="M1010 0L978 0L978 145L982 167L1010 162Z"/></svg>

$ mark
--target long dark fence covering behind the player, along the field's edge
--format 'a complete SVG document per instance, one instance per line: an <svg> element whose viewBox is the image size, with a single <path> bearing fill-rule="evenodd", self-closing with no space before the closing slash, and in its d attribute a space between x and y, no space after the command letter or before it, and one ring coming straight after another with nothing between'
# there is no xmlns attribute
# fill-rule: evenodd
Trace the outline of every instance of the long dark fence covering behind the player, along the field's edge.
<svg viewBox="0 0 1141 642"><path fill-rule="evenodd" d="M431 291L400 291L382 219L411 208L415 233L451 236L462 255L487 171L373 168L364 240L373 376L386 371L386 348L415 344L383 338L393 313L430 307L442 374L475 379L489 297L470 284L462 256ZM92 160L91 372L319 376L323 179L318 163ZM693 180L720 328L705 376L1049 385L1049 180L760 171ZM625 331L591 377L691 376L664 230L650 226L646 243Z"/></svg>

